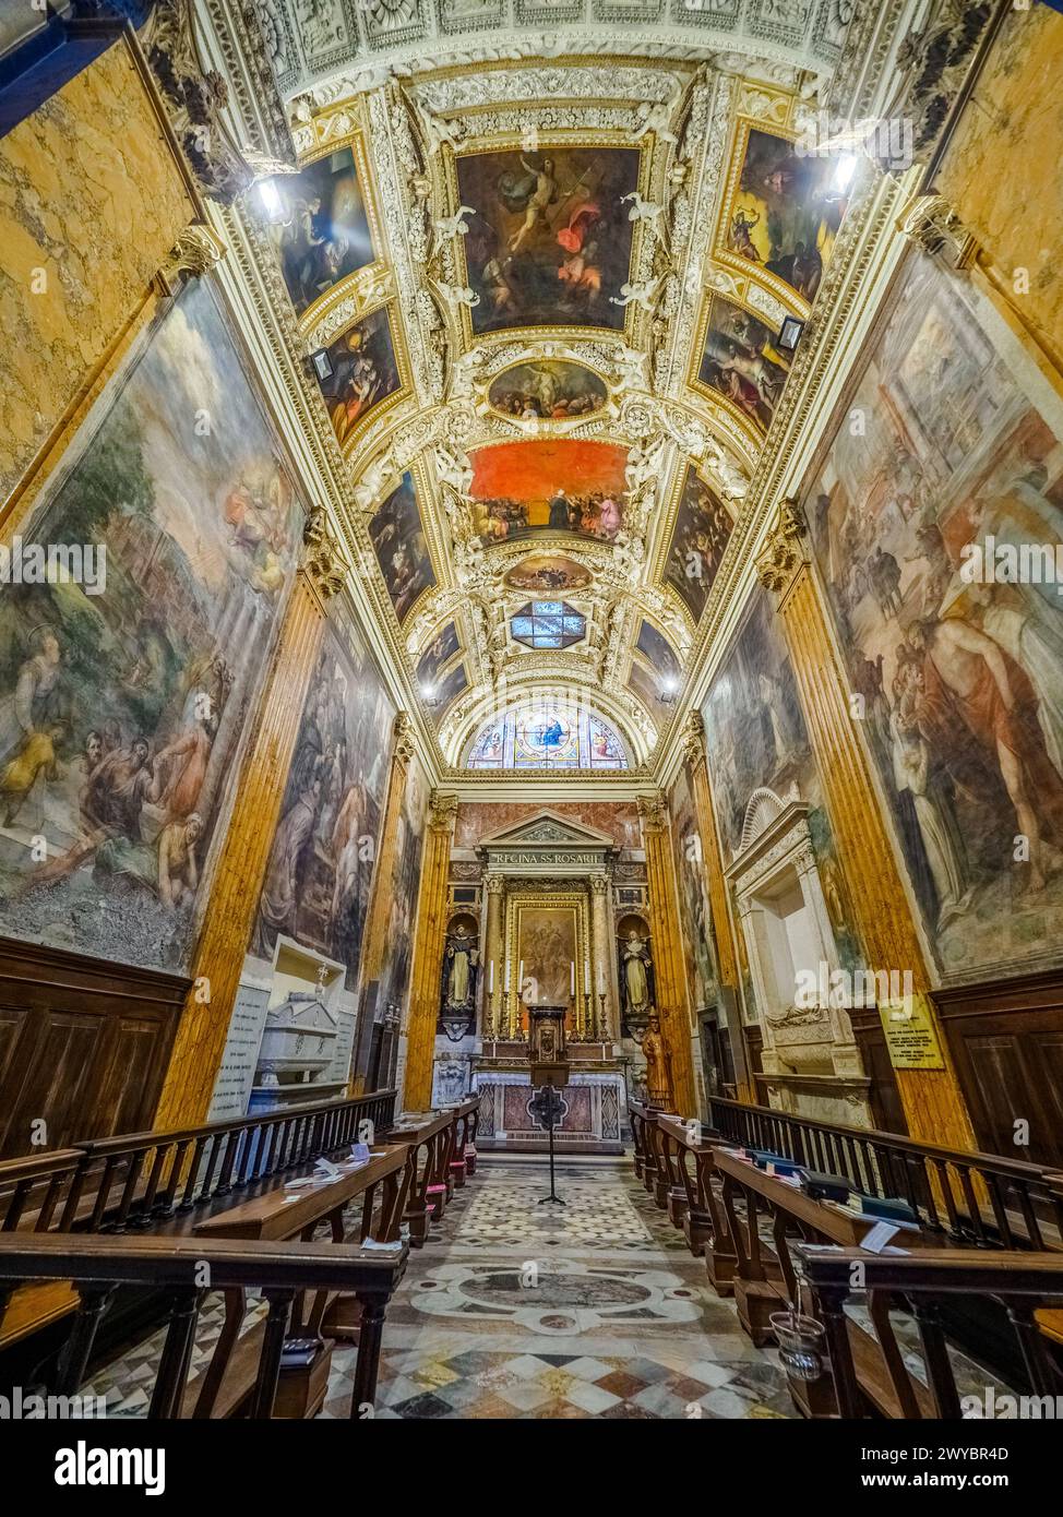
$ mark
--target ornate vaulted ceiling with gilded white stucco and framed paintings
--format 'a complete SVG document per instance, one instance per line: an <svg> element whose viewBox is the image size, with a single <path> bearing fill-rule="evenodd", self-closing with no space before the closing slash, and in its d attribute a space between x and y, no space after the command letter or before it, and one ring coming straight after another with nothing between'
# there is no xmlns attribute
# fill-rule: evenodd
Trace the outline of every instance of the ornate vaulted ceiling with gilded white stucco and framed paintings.
<svg viewBox="0 0 1063 1517"><path fill-rule="evenodd" d="M649 763L845 226L801 140L854 5L256 12L299 171L252 241L441 762L549 690Z"/></svg>

